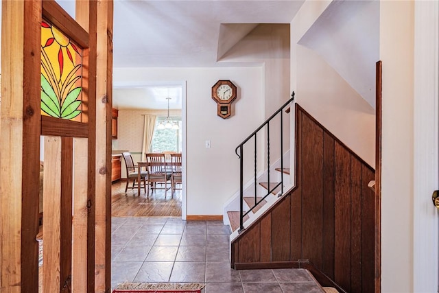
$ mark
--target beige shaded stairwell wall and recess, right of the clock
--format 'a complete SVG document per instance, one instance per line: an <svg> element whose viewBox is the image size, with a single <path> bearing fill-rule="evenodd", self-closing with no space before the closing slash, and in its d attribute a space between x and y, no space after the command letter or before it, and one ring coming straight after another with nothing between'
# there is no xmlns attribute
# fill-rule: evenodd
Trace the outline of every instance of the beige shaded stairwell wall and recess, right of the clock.
<svg viewBox="0 0 439 293"><path fill-rule="evenodd" d="M232 47L221 61L228 62L259 62L263 64L263 81L261 86L264 94L263 115L268 119L291 97L289 91L289 25L261 24ZM283 153L289 150L290 124L292 115L283 113ZM280 148L280 116L270 122L270 161L274 162L281 157ZM259 132L261 148L266 144L267 134ZM263 154L263 152L261 152ZM267 156L258 159L266 165Z"/></svg>

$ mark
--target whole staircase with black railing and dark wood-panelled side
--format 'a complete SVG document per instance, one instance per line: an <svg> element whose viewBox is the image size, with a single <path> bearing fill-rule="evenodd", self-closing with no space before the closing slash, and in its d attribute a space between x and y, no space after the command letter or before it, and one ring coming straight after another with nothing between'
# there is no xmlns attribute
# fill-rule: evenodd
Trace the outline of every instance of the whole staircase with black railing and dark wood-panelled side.
<svg viewBox="0 0 439 293"><path fill-rule="evenodd" d="M282 117L283 107L276 115ZM374 292L379 205L369 183L375 170L298 104L294 146L287 152L281 147L280 159L270 163L276 144L270 145L270 119L258 128L264 132L254 132L244 141L254 141L253 176L245 175L249 166L243 162L253 157L248 154L252 149L247 146L244 154L243 144L237 148L241 185L224 214L233 231L230 266L307 268L324 287L342 293ZM278 126L274 132L283 133L282 123ZM256 150L256 137L261 133L268 134L262 151L266 169L258 173L261 150Z"/></svg>

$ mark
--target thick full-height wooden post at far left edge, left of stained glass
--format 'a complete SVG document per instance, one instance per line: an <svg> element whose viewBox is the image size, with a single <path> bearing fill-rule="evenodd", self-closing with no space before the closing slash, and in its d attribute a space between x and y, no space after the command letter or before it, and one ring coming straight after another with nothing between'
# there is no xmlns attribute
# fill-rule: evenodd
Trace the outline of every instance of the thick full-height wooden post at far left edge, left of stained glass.
<svg viewBox="0 0 439 293"><path fill-rule="evenodd" d="M38 288L40 1L2 1L0 288Z"/></svg>

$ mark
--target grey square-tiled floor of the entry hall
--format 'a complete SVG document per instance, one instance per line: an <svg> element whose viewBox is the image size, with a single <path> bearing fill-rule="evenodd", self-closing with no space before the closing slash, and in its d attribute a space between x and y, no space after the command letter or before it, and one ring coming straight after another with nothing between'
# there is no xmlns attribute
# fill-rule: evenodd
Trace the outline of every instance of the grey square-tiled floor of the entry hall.
<svg viewBox="0 0 439 293"><path fill-rule="evenodd" d="M306 270L232 270L228 226L180 218L112 218L112 272L123 281L205 283L205 293L323 292Z"/></svg>

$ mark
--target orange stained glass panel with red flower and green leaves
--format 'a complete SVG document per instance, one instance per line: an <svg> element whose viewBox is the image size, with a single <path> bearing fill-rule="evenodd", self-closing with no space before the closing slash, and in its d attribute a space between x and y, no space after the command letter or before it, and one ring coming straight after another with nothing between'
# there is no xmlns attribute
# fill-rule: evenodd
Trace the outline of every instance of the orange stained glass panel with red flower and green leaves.
<svg viewBox="0 0 439 293"><path fill-rule="evenodd" d="M41 115L82 121L82 49L41 23Z"/></svg>

